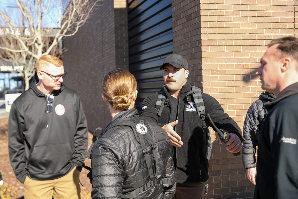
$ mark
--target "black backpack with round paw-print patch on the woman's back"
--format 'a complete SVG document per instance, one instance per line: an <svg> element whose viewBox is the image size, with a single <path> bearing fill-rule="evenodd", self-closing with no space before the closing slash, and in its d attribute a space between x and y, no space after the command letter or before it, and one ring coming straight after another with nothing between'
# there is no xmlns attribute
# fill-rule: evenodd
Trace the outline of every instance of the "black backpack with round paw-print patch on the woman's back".
<svg viewBox="0 0 298 199"><path fill-rule="evenodd" d="M97 137L96 137L96 131L97 130L101 130L102 131L101 135L103 135L109 129L111 129L113 127L116 127L116 126L121 126L121 125L131 127L131 129L133 130L134 135L136 137L136 140L139 142L139 144L141 144L142 149L143 149L143 153L144 153L144 156L145 156L145 161L146 161L146 164L147 164L148 172L149 172L149 177L150 177L148 183L142 185L141 187L135 189L132 192L129 192L128 194L123 194L122 193L121 198L128 198L128 199L135 198L136 195L139 194L139 192L147 190L149 187L153 186L154 184L160 184L160 185L163 185L164 187L172 186L173 182L168 178L156 179L156 176L157 176L157 161L158 161L157 150L156 150L157 144L154 143L154 141L153 141L153 136L154 136L153 134L154 133L153 133L150 125L145 120L145 118L142 117L142 116L138 115L138 117L123 118L123 119L119 118L117 120L112 121L108 125L108 127L106 127L106 129L104 131L100 127L95 129L95 131L93 133L92 144L91 144L91 146L90 146L90 148L89 148L89 150L88 150L85 157L90 159L91 150L93 148L94 142L97 139ZM150 154L149 154L150 150L148 149L148 147L152 148L152 154L153 154L153 158L154 158L154 162L155 162L154 171L153 171L153 168L152 168L153 164L152 164L151 159L150 159Z"/></svg>

